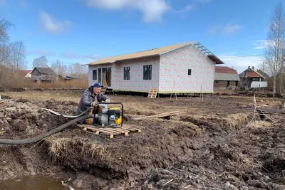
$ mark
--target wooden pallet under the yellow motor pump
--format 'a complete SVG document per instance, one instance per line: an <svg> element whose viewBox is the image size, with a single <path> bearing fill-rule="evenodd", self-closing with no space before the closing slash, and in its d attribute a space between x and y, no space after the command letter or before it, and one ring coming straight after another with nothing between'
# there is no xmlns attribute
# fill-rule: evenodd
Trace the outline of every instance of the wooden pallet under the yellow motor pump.
<svg viewBox="0 0 285 190"><path fill-rule="evenodd" d="M93 125L77 125L78 127L81 127L83 131L92 132L93 134L107 134L108 137L111 139L114 137L114 135L120 135L125 134L125 136L128 136L130 132L142 132L142 126L135 126L135 125L127 125L123 124L122 127L119 128L112 128L112 127L95 127Z"/></svg>

